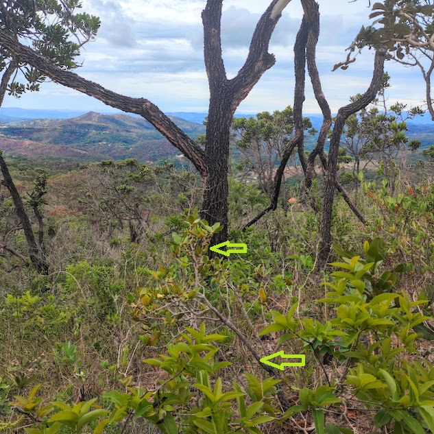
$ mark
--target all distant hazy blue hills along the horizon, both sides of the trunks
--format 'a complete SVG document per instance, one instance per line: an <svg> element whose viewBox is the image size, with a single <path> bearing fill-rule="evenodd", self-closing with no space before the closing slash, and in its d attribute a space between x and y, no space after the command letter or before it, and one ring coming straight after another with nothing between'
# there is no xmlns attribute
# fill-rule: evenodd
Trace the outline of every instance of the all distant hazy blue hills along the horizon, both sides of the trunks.
<svg viewBox="0 0 434 434"><path fill-rule="evenodd" d="M78 116L73 116L75 114ZM205 132L202 125L206 117L204 112L172 112L167 115L193 139ZM43 116L51 119L41 119ZM320 130L321 114L305 116ZM3 125L0 124L0 149L11 155L79 160L138 158L157 161L180 154L178 149L143 117L122 112L101 114L74 110L1 108L1 121ZM418 138L422 142L422 148L434 144L434 122L426 114L424 117L407 121L407 127L409 140ZM314 145L315 137L307 138L306 149L312 149Z"/></svg>

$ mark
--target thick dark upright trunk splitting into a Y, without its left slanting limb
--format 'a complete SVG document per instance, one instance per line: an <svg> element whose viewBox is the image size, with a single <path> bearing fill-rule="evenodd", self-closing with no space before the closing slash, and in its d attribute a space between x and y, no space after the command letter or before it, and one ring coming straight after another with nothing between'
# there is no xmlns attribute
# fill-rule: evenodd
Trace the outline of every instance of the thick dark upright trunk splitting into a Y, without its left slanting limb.
<svg viewBox="0 0 434 434"><path fill-rule="evenodd" d="M280 19L280 14L273 14L274 6L278 3L278 0L274 0L256 25L245 64L232 80L228 80L221 55L222 3L222 0L208 0L202 12L210 104L205 142L208 165L202 174L204 200L201 215L210 224L219 221L224 225L224 230L213 237L213 244L226 241L228 237L228 161L232 116L263 73L276 62L274 56L268 53L268 47L274 27Z"/></svg>

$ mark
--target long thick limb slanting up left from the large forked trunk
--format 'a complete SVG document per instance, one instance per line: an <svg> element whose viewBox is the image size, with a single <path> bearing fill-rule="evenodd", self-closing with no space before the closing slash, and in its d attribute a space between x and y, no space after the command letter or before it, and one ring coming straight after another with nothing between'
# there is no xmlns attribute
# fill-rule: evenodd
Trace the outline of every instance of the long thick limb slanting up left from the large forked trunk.
<svg viewBox="0 0 434 434"><path fill-rule="evenodd" d="M200 173L204 173L207 167L207 160L203 149L195 143L187 134L169 119L155 104L145 98L133 98L109 91L103 86L86 80L80 75L66 71L54 65L50 60L36 53L36 51L25 47L14 40L5 32L0 30L0 45L9 49L16 55L20 62L32 64L51 80L73 88L76 91L85 93L99 99L108 106L119 108L123 112L140 114L147 121L177 147L186 158L189 158Z"/></svg>

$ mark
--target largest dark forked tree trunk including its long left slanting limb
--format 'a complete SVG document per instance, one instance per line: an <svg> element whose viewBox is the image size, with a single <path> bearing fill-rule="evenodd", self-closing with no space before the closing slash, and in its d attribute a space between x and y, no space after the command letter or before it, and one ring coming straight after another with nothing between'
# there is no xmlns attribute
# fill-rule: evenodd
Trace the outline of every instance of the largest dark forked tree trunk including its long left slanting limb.
<svg viewBox="0 0 434 434"><path fill-rule="evenodd" d="M248 57L239 73L228 80L221 56L221 8L223 0L207 0L202 12L204 25L204 57L210 86L210 107L206 130L206 149L202 149L155 104L144 98L132 98L109 91L95 82L56 67L51 61L20 44L0 30L0 45L14 53L20 62L31 64L51 80L95 97L104 104L140 114L188 158L204 182L201 215L209 224L219 221L224 230L211 241L226 241L228 225L228 159L232 114L247 97L267 69L276 62L268 53L269 40L282 11L291 0L272 0L259 19Z"/></svg>

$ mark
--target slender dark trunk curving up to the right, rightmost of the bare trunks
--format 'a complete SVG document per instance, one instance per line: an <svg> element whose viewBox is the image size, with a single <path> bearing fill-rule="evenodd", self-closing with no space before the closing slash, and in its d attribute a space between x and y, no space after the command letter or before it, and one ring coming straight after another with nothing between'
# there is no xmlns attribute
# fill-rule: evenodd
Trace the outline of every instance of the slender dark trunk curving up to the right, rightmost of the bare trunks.
<svg viewBox="0 0 434 434"><path fill-rule="evenodd" d="M357 101L339 108L337 112L335 125L333 126L332 138L330 140L330 150L328 152L326 186L324 189L324 199L322 204L322 220L320 226L321 243L320 254L318 256L318 267L320 268L326 266L331 249L331 224L336 186L337 154L341 143L343 126L351 114L357 113L362 108L365 108L376 97L383 80L384 62L385 50L378 49L375 53L374 73L369 88L359 99L357 99Z"/></svg>

